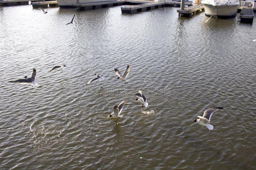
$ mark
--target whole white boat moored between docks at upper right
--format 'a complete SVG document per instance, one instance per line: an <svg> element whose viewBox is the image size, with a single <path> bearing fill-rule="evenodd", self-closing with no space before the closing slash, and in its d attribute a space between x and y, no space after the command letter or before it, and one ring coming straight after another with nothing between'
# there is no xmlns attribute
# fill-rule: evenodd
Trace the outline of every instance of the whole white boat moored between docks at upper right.
<svg viewBox="0 0 256 170"><path fill-rule="evenodd" d="M239 0L202 0L204 5L205 15L217 18L235 17Z"/></svg>

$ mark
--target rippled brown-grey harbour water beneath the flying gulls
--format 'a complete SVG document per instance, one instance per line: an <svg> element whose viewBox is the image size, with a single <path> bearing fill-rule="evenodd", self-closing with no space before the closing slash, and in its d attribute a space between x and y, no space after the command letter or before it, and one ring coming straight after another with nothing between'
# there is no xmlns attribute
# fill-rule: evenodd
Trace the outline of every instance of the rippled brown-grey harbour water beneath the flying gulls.
<svg viewBox="0 0 256 170"><path fill-rule="evenodd" d="M0 7L1 169L255 169L255 21L177 9ZM191 123L210 107L212 131Z"/></svg>

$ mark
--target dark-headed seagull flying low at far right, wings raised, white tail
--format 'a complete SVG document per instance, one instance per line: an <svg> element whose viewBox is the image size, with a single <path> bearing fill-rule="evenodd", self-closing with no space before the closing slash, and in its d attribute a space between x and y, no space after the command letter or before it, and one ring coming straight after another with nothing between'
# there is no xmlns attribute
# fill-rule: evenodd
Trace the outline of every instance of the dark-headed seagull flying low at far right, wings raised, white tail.
<svg viewBox="0 0 256 170"><path fill-rule="evenodd" d="M194 119L192 122L197 122L199 123L200 125L204 126L202 130L204 130L205 126L209 129L209 130L212 130L213 129L213 126L208 124L210 123L210 119L212 117L212 114L219 110L219 109L223 109L223 107L213 107L213 108L210 108L210 109L207 109L204 111L204 115L203 117L202 116L197 116L199 117L199 119Z"/></svg>

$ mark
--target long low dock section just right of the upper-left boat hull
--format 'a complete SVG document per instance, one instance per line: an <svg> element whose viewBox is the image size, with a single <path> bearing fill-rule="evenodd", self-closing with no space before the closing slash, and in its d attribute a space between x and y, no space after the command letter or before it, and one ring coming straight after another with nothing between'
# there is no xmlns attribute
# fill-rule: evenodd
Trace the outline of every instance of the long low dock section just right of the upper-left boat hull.
<svg viewBox="0 0 256 170"><path fill-rule="evenodd" d="M98 2L98 3L83 3L83 4L73 4L72 6L75 6L76 9L79 10L92 10L97 8L106 8L106 7L112 7L117 5L123 5L125 1L104 1L104 2Z"/></svg>

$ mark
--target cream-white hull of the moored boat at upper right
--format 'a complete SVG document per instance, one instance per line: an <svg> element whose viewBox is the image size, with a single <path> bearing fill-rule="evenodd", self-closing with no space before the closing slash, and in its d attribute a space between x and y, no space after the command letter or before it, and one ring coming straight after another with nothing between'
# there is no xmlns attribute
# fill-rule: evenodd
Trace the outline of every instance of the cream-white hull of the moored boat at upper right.
<svg viewBox="0 0 256 170"><path fill-rule="evenodd" d="M237 14L239 4L204 4L205 15L217 18L231 18Z"/></svg>

